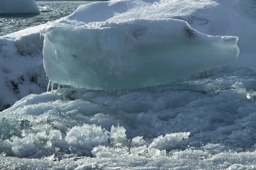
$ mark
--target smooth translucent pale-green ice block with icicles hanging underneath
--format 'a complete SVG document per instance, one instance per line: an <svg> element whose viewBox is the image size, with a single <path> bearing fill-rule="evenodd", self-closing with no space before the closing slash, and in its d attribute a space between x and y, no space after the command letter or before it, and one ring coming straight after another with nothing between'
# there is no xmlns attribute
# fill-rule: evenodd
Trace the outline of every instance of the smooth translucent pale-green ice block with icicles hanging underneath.
<svg viewBox="0 0 256 170"><path fill-rule="evenodd" d="M208 36L175 19L133 19L83 26L48 23L44 68L52 82L87 89L138 88L227 65L237 37Z"/></svg>

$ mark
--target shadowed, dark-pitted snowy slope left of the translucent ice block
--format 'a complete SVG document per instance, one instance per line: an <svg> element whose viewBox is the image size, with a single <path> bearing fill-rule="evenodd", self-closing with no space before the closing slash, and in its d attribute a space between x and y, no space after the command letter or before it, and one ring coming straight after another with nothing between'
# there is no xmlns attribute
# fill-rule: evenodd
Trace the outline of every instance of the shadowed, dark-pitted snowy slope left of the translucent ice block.
<svg viewBox="0 0 256 170"><path fill-rule="evenodd" d="M47 89L42 26L0 37L0 111L29 94Z"/></svg>

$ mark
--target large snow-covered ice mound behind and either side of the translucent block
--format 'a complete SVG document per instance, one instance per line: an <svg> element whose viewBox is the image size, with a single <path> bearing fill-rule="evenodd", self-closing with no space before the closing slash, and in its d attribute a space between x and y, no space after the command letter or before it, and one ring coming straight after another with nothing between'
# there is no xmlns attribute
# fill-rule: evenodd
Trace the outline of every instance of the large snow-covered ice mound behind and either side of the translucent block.
<svg viewBox="0 0 256 170"><path fill-rule="evenodd" d="M207 2L199 0L112 0L81 6L73 14L58 22L73 23L79 26L79 24L84 25L94 21L115 22L134 18L185 20L192 28L204 34L239 37L240 52L234 66L256 71L254 64L256 62L255 9L253 0L209 0ZM43 26L28 28L0 38L0 49L2 49L0 60L4 61L0 62L0 110L8 108L30 93L40 94L46 91L45 86L48 80L46 81L43 62L41 62L44 37L40 37L39 34L39 29ZM14 62L17 60L18 62ZM218 71L214 74L218 74ZM204 76L206 75L207 71L204 72ZM23 83L22 77L26 83ZM122 89L124 88L107 87L107 91L118 92Z"/></svg>

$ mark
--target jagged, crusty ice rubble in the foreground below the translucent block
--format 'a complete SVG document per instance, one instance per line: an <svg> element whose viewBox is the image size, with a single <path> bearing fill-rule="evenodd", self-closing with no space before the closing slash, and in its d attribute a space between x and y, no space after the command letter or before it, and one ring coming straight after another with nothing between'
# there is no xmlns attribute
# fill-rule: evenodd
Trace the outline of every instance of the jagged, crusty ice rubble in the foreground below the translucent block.
<svg viewBox="0 0 256 170"><path fill-rule="evenodd" d="M237 69L154 91L26 96L0 114L0 168L253 168L255 77ZM201 90L171 89L182 86Z"/></svg>

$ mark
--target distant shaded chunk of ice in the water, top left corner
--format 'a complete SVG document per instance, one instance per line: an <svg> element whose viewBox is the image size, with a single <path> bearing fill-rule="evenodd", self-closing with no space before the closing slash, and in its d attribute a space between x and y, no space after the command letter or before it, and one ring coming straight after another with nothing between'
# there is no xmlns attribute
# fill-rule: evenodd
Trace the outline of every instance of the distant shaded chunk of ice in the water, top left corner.
<svg viewBox="0 0 256 170"><path fill-rule="evenodd" d="M1 0L0 15L40 14L34 0Z"/></svg>

